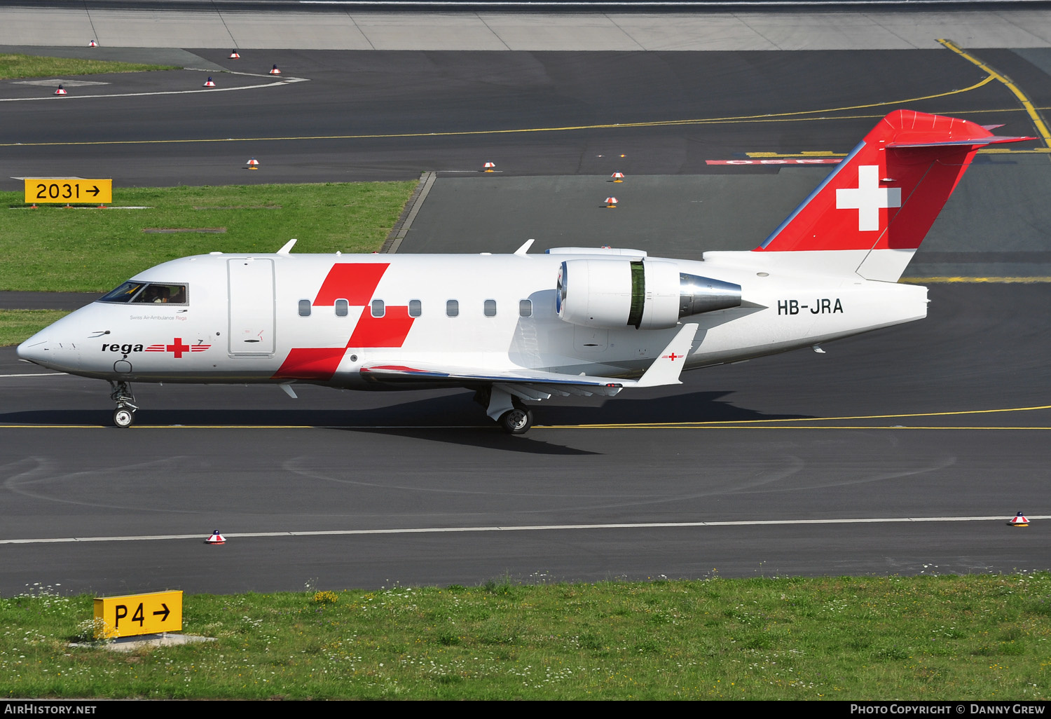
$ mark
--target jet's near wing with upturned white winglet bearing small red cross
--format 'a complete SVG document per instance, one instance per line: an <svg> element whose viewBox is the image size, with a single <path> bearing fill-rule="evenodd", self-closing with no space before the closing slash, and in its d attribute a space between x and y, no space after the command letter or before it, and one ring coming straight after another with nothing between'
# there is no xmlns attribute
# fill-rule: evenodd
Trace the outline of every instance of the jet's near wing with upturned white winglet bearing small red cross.
<svg viewBox="0 0 1051 719"><path fill-rule="evenodd" d="M586 374L563 374L542 370L516 369L494 372L492 369L470 367L442 367L424 363L407 365L366 365L363 375L380 383L411 384L438 382L449 384L492 383L494 389L503 390L521 399L548 399L558 394L590 396L600 394L612 397L624 387L659 387L678 385L679 373L685 366L697 325L683 325L664 351L654 359L638 379L603 377Z"/></svg>

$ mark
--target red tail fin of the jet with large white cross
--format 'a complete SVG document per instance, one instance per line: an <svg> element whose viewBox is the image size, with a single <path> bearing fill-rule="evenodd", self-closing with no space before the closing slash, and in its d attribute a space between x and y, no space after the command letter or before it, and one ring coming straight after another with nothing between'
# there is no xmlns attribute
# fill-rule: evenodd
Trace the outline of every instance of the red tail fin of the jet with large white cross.
<svg viewBox="0 0 1051 719"><path fill-rule="evenodd" d="M1034 139L895 110L756 251L813 253L807 264L815 271L897 282L975 152Z"/></svg>

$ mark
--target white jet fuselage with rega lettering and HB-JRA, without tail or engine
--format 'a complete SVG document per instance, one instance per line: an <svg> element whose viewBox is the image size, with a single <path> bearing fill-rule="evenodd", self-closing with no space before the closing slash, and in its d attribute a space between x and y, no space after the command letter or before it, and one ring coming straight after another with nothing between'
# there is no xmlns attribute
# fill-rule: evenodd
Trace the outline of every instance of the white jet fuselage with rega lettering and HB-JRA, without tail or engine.
<svg viewBox="0 0 1051 719"><path fill-rule="evenodd" d="M686 369L926 315L923 287L757 272L726 261L736 253L719 254L716 262L645 259L741 288L740 306L689 315L699 330ZM590 327L558 316L562 263L596 258L610 260L557 253L184 258L132 279L185 287L183 302L97 301L26 341L19 353L56 370L123 382L390 389L362 372L377 363L637 377L675 327Z"/></svg>

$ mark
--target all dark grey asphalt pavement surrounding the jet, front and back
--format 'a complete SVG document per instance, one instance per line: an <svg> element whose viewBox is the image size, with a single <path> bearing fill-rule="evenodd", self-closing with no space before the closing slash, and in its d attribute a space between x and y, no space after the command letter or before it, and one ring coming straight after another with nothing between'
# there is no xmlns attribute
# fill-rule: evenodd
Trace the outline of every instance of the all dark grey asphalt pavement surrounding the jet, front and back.
<svg viewBox="0 0 1051 719"><path fill-rule="evenodd" d="M1034 107L1051 104L1046 49L975 55ZM103 77L114 85L89 91L129 97L61 104L3 83L5 174L127 186L435 170L399 251L536 237L697 256L754 246L827 171L708 160L834 158L903 99L1034 132L1005 82L946 49L250 62L305 81L245 76L246 89L205 94L187 70ZM150 87L186 93L131 95ZM768 117L781 112L795 115ZM251 155L260 172L242 169ZM487 160L501 171L481 176ZM613 169L628 182L607 211ZM118 430L104 383L0 349L0 593L1048 569L1051 522L1005 522L1051 516L1049 169L1042 152L982 156L910 268L1010 283L935 282L927 320L827 354L693 372L604 405L545 403L524 437L483 422L469 392L311 387L292 400L273 387L137 386L138 424ZM213 529L230 541L204 546Z"/></svg>

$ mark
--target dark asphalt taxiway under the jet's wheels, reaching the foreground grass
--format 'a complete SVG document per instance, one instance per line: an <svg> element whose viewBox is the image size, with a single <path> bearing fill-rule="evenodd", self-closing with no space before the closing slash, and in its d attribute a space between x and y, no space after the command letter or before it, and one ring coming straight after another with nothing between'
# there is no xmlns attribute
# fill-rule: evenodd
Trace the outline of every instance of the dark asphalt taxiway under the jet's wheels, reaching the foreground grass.
<svg viewBox="0 0 1051 719"><path fill-rule="evenodd" d="M310 387L140 386L119 430L103 383L3 376L0 591L1046 569L1046 285L931 294L824 355L541 405L524 437L468 392Z"/></svg>

